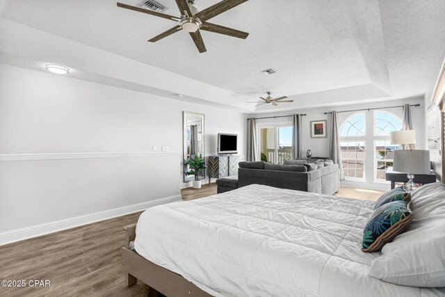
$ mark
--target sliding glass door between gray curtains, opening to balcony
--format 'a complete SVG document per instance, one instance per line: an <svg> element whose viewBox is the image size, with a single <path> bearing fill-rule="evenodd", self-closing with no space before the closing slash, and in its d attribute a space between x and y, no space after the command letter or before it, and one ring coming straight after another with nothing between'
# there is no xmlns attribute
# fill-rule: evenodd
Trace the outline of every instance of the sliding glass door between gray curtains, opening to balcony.
<svg viewBox="0 0 445 297"><path fill-rule="evenodd" d="M292 156L293 126L269 126L259 128L259 147L261 161L282 164Z"/></svg>

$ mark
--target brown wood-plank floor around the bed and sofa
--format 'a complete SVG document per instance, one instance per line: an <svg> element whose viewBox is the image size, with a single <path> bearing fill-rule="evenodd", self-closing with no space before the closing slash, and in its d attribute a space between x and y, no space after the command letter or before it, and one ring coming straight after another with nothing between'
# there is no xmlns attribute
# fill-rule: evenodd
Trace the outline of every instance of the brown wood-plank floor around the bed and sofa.
<svg viewBox="0 0 445 297"><path fill-rule="evenodd" d="M381 191L342 187L342 197L376 200ZM181 190L183 200L216 194L216 184ZM0 287L0 296L147 296L138 282L125 287L122 227L140 212L0 246L0 280L49 280L50 287Z"/></svg>

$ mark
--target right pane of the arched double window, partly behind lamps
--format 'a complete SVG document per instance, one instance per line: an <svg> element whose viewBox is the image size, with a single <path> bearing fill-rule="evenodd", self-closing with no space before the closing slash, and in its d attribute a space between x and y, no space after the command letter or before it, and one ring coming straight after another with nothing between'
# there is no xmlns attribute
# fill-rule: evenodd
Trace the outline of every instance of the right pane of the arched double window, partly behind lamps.
<svg viewBox="0 0 445 297"><path fill-rule="evenodd" d="M384 181L388 167L393 166L394 150L398 145L391 145L389 132L400 131L402 121L394 113L374 111L374 180Z"/></svg>

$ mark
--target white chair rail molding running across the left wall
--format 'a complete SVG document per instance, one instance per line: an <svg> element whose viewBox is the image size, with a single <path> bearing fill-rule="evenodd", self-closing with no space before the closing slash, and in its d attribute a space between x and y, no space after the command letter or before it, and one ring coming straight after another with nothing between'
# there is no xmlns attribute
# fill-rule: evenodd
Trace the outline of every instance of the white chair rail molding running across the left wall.
<svg viewBox="0 0 445 297"><path fill-rule="evenodd" d="M35 154L0 154L0 161L33 161L62 159L121 158L132 156L168 156L181 155L180 151L161 152L62 152Z"/></svg>

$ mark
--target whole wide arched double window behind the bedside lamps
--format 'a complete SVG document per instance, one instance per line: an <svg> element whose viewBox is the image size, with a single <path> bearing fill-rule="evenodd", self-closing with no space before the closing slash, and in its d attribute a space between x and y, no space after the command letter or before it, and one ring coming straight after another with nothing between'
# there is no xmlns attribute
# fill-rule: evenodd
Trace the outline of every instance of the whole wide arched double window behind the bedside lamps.
<svg viewBox="0 0 445 297"><path fill-rule="evenodd" d="M362 111L347 118L340 127L346 179L385 182L385 172L393 165L394 150L398 149L389 143L389 132L401 128L400 118L387 111Z"/></svg>

